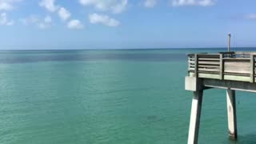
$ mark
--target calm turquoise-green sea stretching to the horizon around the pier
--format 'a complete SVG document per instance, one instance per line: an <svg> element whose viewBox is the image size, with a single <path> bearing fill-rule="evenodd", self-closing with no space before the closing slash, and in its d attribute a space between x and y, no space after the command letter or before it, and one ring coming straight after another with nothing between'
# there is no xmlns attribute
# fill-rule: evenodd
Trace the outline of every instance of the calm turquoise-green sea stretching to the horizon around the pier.
<svg viewBox="0 0 256 144"><path fill-rule="evenodd" d="M0 143L186 143L186 54L218 51L0 51ZM237 93L238 142L225 94L206 90L199 143L256 143L256 94Z"/></svg>

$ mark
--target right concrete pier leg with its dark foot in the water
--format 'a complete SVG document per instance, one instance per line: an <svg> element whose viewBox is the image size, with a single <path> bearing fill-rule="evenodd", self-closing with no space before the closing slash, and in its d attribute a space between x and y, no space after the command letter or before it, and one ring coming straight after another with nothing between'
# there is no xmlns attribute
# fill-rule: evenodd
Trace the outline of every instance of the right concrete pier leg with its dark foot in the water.
<svg viewBox="0 0 256 144"><path fill-rule="evenodd" d="M236 115L236 104L235 104L235 91L227 89L226 90L226 105L227 105L227 120L229 126L230 138L238 138L237 130L237 115Z"/></svg>

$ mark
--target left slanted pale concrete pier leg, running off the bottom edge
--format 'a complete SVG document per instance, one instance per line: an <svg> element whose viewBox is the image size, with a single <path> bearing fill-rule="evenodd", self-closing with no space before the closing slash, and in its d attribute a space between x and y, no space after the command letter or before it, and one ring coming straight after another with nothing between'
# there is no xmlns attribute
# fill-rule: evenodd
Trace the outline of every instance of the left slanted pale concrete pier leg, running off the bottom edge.
<svg viewBox="0 0 256 144"><path fill-rule="evenodd" d="M198 143L198 132L200 125L200 116L202 109L202 94L203 90L198 90L194 92L194 97L192 100L191 114L190 114L190 130L188 144Z"/></svg>

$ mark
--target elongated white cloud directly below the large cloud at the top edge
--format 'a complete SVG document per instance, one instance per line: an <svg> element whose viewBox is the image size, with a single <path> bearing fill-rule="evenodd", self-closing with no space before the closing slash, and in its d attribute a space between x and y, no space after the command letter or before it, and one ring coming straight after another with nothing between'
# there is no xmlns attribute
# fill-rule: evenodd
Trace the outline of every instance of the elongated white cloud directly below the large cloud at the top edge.
<svg viewBox="0 0 256 144"><path fill-rule="evenodd" d="M118 22L114 18L110 18L109 16L104 14L90 14L89 20L90 23L101 23L106 26L118 26L120 24L120 22Z"/></svg>

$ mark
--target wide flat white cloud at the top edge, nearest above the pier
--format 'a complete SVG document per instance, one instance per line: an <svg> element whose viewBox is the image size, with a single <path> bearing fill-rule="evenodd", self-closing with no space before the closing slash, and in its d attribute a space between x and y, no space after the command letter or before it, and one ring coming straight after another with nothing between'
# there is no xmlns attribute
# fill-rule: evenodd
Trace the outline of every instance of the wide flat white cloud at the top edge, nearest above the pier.
<svg viewBox="0 0 256 144"><path fill-rule="evenodd" d="M217 0L171 0L172 6L213 6Z"/></svg>

